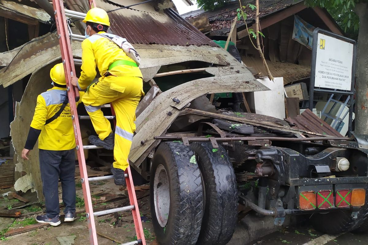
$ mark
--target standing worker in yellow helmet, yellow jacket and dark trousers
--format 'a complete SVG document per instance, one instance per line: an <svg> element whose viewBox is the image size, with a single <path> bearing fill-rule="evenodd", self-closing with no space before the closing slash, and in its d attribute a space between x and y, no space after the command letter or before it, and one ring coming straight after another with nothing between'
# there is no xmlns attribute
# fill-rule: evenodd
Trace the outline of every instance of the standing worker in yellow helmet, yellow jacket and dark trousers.
<svg viewBox="0 0 368 245"><path fill-rule="evenodd" d="M46 215L39 215L39 223L60 224L59 178L65 205L64 221L75 216L75 138L68 103L67 87L62 63L50 70L53 88L37 97L35 114L22 158L28 160L29 151L38 139L40 173L45 196ZM80 96L83 95L81 92ZM78 102L77 102L78 103Z"/></svg>

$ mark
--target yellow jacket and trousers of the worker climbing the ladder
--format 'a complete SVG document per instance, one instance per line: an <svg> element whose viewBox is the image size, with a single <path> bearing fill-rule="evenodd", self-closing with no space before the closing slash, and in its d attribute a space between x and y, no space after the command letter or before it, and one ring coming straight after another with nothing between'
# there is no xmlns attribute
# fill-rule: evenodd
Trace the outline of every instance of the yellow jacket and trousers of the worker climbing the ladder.
<svg viewBox="0 0 368 245"><path fill-rule="evenodd" d="M99 32L105 33L105 32ZM135 109L144 95L142 73L138 67L118 65L109 70L114 61L134 62L115 43L99 35L92 35L82 42L82 72L78 80L79 89L86 89L96 76L96 65L101 77L88 87L82 102L101 140L112 133L110 122L103 116L101 105L112 103L116 114L113 167L125 170L128 165L133 132L135 131Z"/></svg>

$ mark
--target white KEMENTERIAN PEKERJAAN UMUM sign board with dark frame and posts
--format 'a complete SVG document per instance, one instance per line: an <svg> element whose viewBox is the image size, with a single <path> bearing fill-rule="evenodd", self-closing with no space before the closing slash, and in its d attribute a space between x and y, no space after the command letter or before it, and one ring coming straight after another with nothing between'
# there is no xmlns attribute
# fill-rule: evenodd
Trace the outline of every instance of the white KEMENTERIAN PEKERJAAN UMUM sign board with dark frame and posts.
<svg viewBox="0 0 368 245"><path fill-rule="evenodd" d="M353 96L356 42L316 28L313 32L309 109L313 109L314 92L350 96L348 136L353 122Z"/></svg>

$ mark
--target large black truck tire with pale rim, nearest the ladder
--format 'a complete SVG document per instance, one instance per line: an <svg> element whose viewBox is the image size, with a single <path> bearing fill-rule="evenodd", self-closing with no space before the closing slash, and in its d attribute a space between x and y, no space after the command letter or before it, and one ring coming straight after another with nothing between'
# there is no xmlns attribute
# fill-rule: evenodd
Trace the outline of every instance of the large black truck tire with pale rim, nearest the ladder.
<svg viewBox="0 0 368 245"><path fill-rule="evenodd" d="M194 152L182 143L161 143L150 179L152 224L159 244L196 244L204 195Z"/></svg>

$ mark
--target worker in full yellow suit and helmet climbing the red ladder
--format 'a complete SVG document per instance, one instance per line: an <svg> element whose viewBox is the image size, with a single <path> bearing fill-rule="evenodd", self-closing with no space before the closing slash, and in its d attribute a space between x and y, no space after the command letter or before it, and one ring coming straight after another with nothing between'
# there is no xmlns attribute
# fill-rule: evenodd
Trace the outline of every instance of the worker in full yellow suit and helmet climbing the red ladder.
<svg viewBox="0 0 368 245"><path fill-rule="evenodd" d="M118 36L106 33L110 21L105 10L92 8L83 22L86 23L86 39L82 42L82 71L79 79L72 78L72 84L79 89L88 87L82 102L98 134L90 136L88 141L105 149L114 149L115 161L111 166L114 182L124 185L124 170L129 165L128 155L135 131L135 109L144 95L142 73L137 63L112 41ZM96 65L101 77L92 83ZM107 103L112 103L116 114L115 136L101 111L101 105Z"/></svg>

